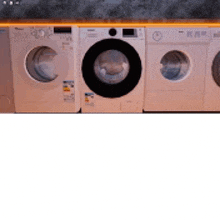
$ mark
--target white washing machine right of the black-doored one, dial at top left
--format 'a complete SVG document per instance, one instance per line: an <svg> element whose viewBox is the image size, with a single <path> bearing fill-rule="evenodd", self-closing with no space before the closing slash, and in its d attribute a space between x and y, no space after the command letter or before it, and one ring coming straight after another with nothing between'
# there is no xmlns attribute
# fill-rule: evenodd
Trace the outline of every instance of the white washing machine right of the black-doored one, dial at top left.
<svg viewBox="0 0 220 220"><path fill-rule="evenodd" d="M208 28L146 28L144 111L202 111Z"/></svg>

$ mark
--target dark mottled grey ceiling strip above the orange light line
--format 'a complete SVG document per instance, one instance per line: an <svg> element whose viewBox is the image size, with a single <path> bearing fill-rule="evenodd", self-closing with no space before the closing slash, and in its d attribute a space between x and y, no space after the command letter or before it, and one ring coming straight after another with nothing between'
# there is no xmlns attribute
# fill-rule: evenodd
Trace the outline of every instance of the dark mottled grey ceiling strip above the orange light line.
<svg viewBox="0 0 220 220"><path fill-rule="evenodd" d="M218 19L220 0L1 0L0 19Z"/></svg>

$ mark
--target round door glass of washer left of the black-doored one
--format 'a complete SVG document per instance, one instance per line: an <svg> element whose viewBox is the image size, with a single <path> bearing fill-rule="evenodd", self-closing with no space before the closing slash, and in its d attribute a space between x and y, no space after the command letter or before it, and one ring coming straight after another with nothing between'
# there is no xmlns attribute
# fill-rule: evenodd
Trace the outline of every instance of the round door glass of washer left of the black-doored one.
<svg viewBox="0 0 220 220"><path fill-rule="evenodd" d="M29 74L40 82L51 82L57 78L55 58L57 53L49 47L38 47L27 57L26 66Z"/></svg>

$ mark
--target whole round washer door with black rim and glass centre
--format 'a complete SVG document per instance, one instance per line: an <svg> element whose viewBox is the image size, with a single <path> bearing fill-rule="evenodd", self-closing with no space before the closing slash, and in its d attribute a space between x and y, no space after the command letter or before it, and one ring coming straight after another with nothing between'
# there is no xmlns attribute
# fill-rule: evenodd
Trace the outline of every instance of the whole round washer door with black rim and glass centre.
<svg viewBox="0 0 220 220"><path fill-rule="evenodd" d="M83 78L96 94L116 98L131 92L141 77L141 60L125 41L105 39L94 44L82 62Z"/></svg>

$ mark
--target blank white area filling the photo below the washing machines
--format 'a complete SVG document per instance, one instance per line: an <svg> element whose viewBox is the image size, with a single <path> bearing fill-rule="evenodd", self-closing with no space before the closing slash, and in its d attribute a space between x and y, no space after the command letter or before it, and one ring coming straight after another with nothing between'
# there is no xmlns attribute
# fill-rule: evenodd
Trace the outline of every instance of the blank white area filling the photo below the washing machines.
<svg viewBox="0 0 220 220"><path fill-rule="evenodd" d="M219 220L218 114L0 115L1 220Z"/></svg>

